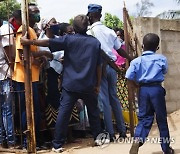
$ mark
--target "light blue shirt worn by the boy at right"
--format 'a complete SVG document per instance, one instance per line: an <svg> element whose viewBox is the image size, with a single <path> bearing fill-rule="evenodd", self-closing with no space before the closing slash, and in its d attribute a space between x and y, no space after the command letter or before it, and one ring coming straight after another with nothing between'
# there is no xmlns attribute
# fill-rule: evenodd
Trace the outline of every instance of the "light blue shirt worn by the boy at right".
<svg viewBox="0 0 180 154"><path fill-rule="evenodd" d="M162 82L167 69L165 56L153 51L144 51L142 56L131 61L126 78L138 83Z"/></svg>

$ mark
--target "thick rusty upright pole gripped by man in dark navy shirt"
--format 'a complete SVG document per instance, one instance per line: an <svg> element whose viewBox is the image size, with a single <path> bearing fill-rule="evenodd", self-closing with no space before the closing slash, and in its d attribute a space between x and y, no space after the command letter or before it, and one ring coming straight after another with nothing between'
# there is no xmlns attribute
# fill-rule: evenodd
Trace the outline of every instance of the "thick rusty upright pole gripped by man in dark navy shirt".
<svg viewBox="0 0 180 154"><path fill-rule="evenodd" d="M28 0L22 0L22 33L28 32L29 14L28 14ZM34 122L34 106L32 93L32 79L31 79L31 61L29 46L23 47L24 55L24 77L25 77L25 100L26 100L26 119L27 119L27 151L28 153L36 153L36 136L35 136L35 122Z"/></svg>

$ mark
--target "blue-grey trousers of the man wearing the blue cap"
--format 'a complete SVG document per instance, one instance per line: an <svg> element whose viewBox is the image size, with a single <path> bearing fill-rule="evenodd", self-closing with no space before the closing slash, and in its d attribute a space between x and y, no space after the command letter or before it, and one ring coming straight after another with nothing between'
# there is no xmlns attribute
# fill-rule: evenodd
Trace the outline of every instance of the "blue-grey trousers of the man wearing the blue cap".
<svg viewBox="0 0 180 154"><path fill-rule="evenodd" d="M114 134L112 113L114 113L117 129L119 133L126 133L126 127L122 115L122 108L117 96L117 73L110 67L106 66L106 75L102 76L100 89L100 102L103 105L104 123L106 131L109 134Z"/></svg>

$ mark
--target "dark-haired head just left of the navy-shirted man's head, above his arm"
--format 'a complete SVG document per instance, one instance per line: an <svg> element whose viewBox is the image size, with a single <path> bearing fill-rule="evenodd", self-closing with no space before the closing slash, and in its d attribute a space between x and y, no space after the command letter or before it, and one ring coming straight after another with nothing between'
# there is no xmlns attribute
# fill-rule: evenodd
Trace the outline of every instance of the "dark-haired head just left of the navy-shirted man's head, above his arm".
<svg viewBox="0 0 180 154"><path fill-rule="evenodd" d="M60 30L60 36L66 34L74 34L73 26L70 25L69 23L60 23L59 30Z"/></svg>

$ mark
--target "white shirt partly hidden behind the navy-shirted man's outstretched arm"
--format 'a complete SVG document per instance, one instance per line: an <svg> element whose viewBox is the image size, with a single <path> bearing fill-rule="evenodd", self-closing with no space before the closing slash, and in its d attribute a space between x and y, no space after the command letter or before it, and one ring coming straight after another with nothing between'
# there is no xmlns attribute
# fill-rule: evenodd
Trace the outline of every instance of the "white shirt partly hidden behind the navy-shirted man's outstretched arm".
<svg viewBox="0 0 180 154"><path fill-rule="evenodd" d="M43 39L48 39L48 37L45 35L44 31L42 31L38 39L43 40ZM51 52L48 47L39 47L39 51ZM60 58L64 57L64 51L56 51L53 52L52 54L54 58L52 61L49 62L50 67L52 67L58 74L61 74L63 70L63 65L59 60Z"/></svg>

